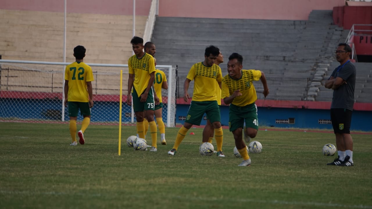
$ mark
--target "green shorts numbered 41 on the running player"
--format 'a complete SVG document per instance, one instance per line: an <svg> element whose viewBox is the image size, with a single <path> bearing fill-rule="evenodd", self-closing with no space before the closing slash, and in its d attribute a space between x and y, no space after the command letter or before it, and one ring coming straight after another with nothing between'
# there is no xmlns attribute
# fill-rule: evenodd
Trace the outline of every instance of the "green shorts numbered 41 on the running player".
<svg viewBox="0 0 372 209"><path fill-rule="evenodd" d="M257 105L252 103L244 107L230 104L229 108L229 128L233 132L238 128L243 128L244 121L246 127L258 130Z"/></svg>

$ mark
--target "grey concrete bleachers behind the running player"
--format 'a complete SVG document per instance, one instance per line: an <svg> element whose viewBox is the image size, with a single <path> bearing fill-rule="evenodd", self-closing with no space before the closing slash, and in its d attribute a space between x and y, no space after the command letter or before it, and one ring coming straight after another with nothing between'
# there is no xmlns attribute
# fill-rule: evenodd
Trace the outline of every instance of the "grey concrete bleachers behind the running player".
<svg viewBox="0 0 372 209"><path fill-rule="evenodd" d="M215 45L225 56L220 64L223 75L228 56L237 52L244 58L243 69L265 73L270 89L267 99L304 100L317 64L329 63L340 39L340 29L332 22L328 10L314 10L307 21L157 17L151 41L158 64L178 66L180 87L192 64L204 60L205 48ZM280 81L273 78L294 81L278 88ZM254 85L262 88L260 81ZM183 96L182 89L179 96Z"/></svg>

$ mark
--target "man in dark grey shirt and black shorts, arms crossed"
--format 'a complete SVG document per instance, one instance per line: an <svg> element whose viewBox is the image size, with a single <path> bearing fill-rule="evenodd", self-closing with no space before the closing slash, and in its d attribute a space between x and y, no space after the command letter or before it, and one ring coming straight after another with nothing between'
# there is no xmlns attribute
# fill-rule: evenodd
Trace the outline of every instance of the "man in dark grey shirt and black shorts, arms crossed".
<svg viewBox="0 0 372 209"><path fill-rule="evenodd" d="M339 44L334 53L340 66L333 70L324 86L333 89L331 122L339 156L327 165L353 166L353 139L350 135L350 125L354 106L356 69L349 60L351 48L348 44Z"/></svg>

